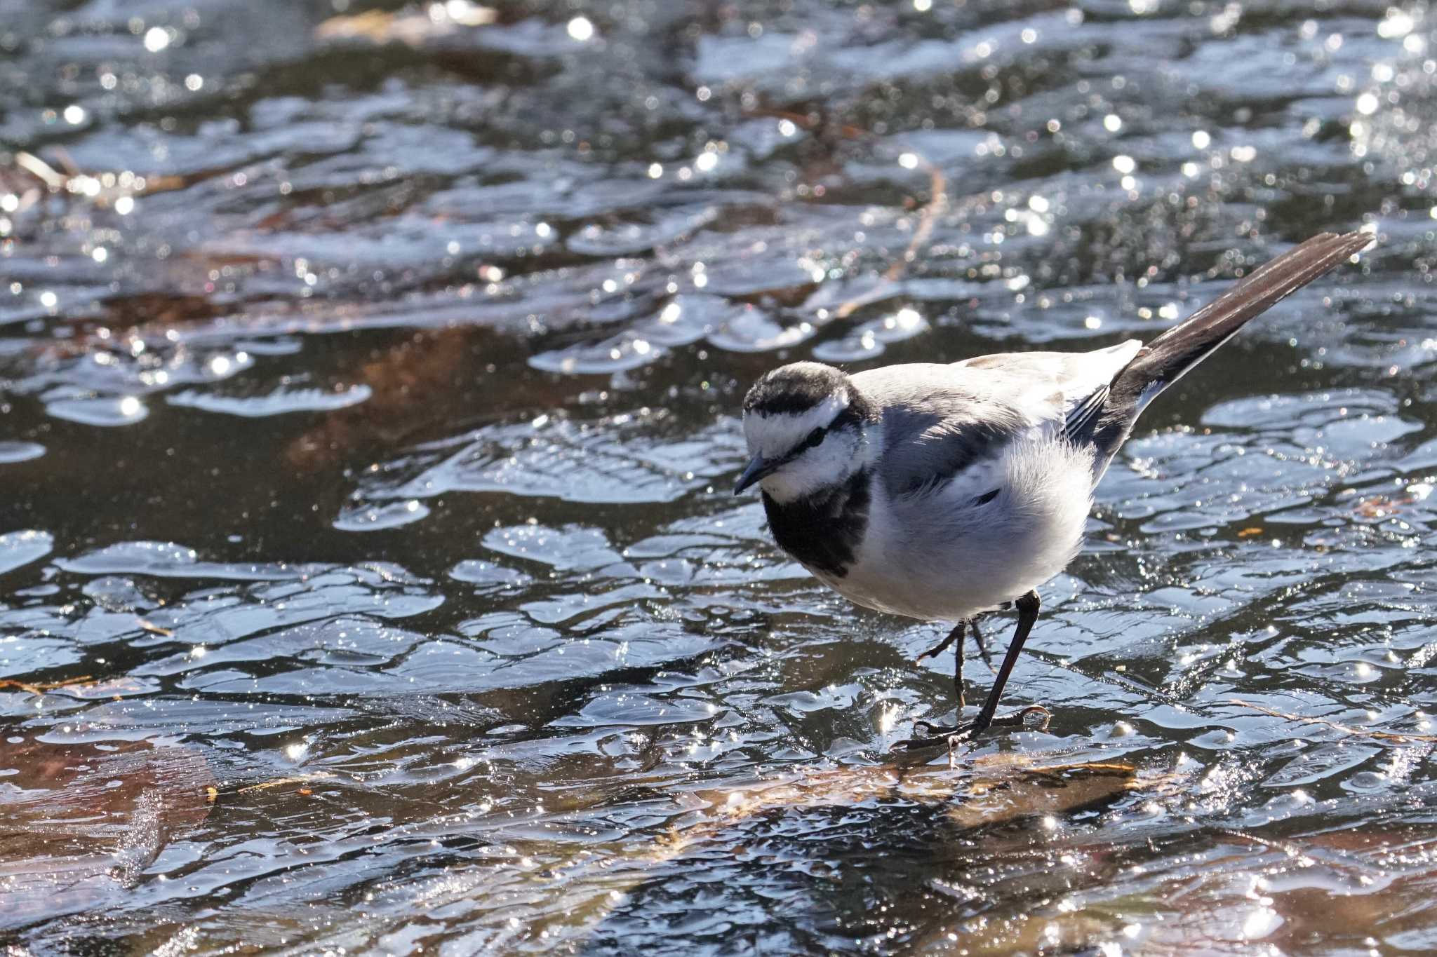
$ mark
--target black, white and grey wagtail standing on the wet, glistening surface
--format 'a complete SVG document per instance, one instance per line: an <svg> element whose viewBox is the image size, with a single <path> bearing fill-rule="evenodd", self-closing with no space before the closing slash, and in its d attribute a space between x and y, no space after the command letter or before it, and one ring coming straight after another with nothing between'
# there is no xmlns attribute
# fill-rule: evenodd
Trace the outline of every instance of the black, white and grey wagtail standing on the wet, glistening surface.
<svg viewBox="0 0 1437 957"><path fill-rule="evenodd" d="M1242 326L1361 251L1372 235L1313 237L1256 270L1150 344L1026 352L852 376L796 362L743 400L752 459L779 547L867 608L957 627L951 742L993 723L1027 633L1035 588L1082 550L1092 492L1142 409ZM971 725L963 716L963 636L1015 605L1017 628ZM1046 709L1030 707L1046 715ZM1020 713L1022 715L1022 713ZM1002 719L1017 723L1019 719Z"/></svg>

